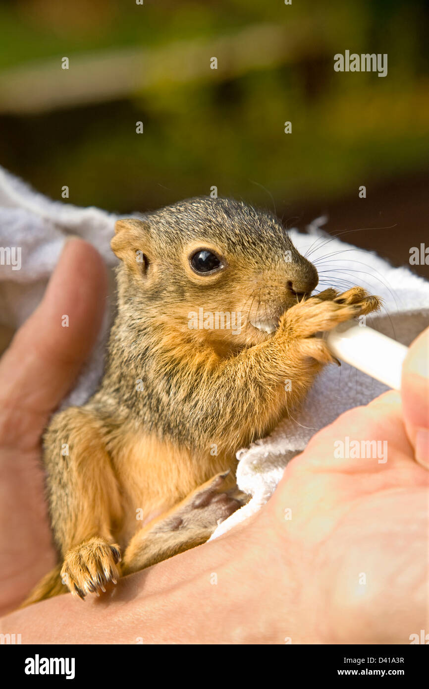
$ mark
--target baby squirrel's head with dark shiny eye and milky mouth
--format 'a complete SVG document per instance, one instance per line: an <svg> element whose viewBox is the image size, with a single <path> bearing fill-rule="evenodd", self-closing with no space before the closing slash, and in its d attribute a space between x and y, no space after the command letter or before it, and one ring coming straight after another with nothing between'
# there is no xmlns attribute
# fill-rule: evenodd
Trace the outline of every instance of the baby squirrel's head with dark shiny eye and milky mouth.
<svg viewBox="0 0 429 689"><path fill-rule="evenodd" d="M115 229L120 313L220 352L273 336L318 282L278 218L235 200L191 198Z"/></svg>

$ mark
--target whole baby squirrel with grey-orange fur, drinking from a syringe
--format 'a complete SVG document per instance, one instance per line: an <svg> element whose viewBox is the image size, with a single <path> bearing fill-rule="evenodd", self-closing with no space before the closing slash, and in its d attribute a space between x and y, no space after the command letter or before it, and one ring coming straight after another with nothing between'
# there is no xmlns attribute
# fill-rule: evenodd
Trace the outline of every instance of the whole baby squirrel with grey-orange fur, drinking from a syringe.
<svg viewBox="0 0 429 689"><path fill-rule="evenodd" d="M360 287L309 296L317 271L280 221L234 200L118 220L112 249L118 312L103 382L44 437L59 565L25 604L67 588L99 594L207 541L242 504L238 449L333 361L315 334L379 307Z"/></svg>

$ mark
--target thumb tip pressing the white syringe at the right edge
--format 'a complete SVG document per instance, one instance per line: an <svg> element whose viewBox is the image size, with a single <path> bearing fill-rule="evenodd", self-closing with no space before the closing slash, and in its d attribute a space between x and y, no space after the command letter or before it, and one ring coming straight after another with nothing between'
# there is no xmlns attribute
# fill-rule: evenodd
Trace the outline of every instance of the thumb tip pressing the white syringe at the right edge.
<svg viewBox="0 0 429 689"><path fill-rule="evenodd" d="M410 346L402 367L401 398L416 460L429 469L429 328Z"/></svg>

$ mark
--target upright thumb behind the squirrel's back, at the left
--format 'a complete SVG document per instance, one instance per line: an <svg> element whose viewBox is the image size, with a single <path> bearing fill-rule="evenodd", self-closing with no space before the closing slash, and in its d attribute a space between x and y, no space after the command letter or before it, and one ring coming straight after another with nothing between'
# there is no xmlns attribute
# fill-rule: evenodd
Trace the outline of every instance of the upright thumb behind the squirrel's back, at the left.
<svg viewBox="0 0 429 689"><path fill-rule="evenodd" d="M0 438L16 445L39 437L94 347L106 292L98 251L69 240L41 304L1 358Z"/></svg>

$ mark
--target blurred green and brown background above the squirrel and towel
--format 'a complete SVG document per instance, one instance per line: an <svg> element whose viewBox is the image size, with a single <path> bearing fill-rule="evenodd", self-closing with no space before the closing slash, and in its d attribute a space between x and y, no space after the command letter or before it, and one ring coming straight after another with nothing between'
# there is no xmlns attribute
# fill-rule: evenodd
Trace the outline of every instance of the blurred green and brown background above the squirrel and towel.
<svg viewBox="0 0 429 689"><path fill-rule="evenodd" d="M428 20L423 0L3 1L0 163L121 213L216 185L408 263L429 236ZM387 76L335 72L345 50L387 53Z"/></svg>

